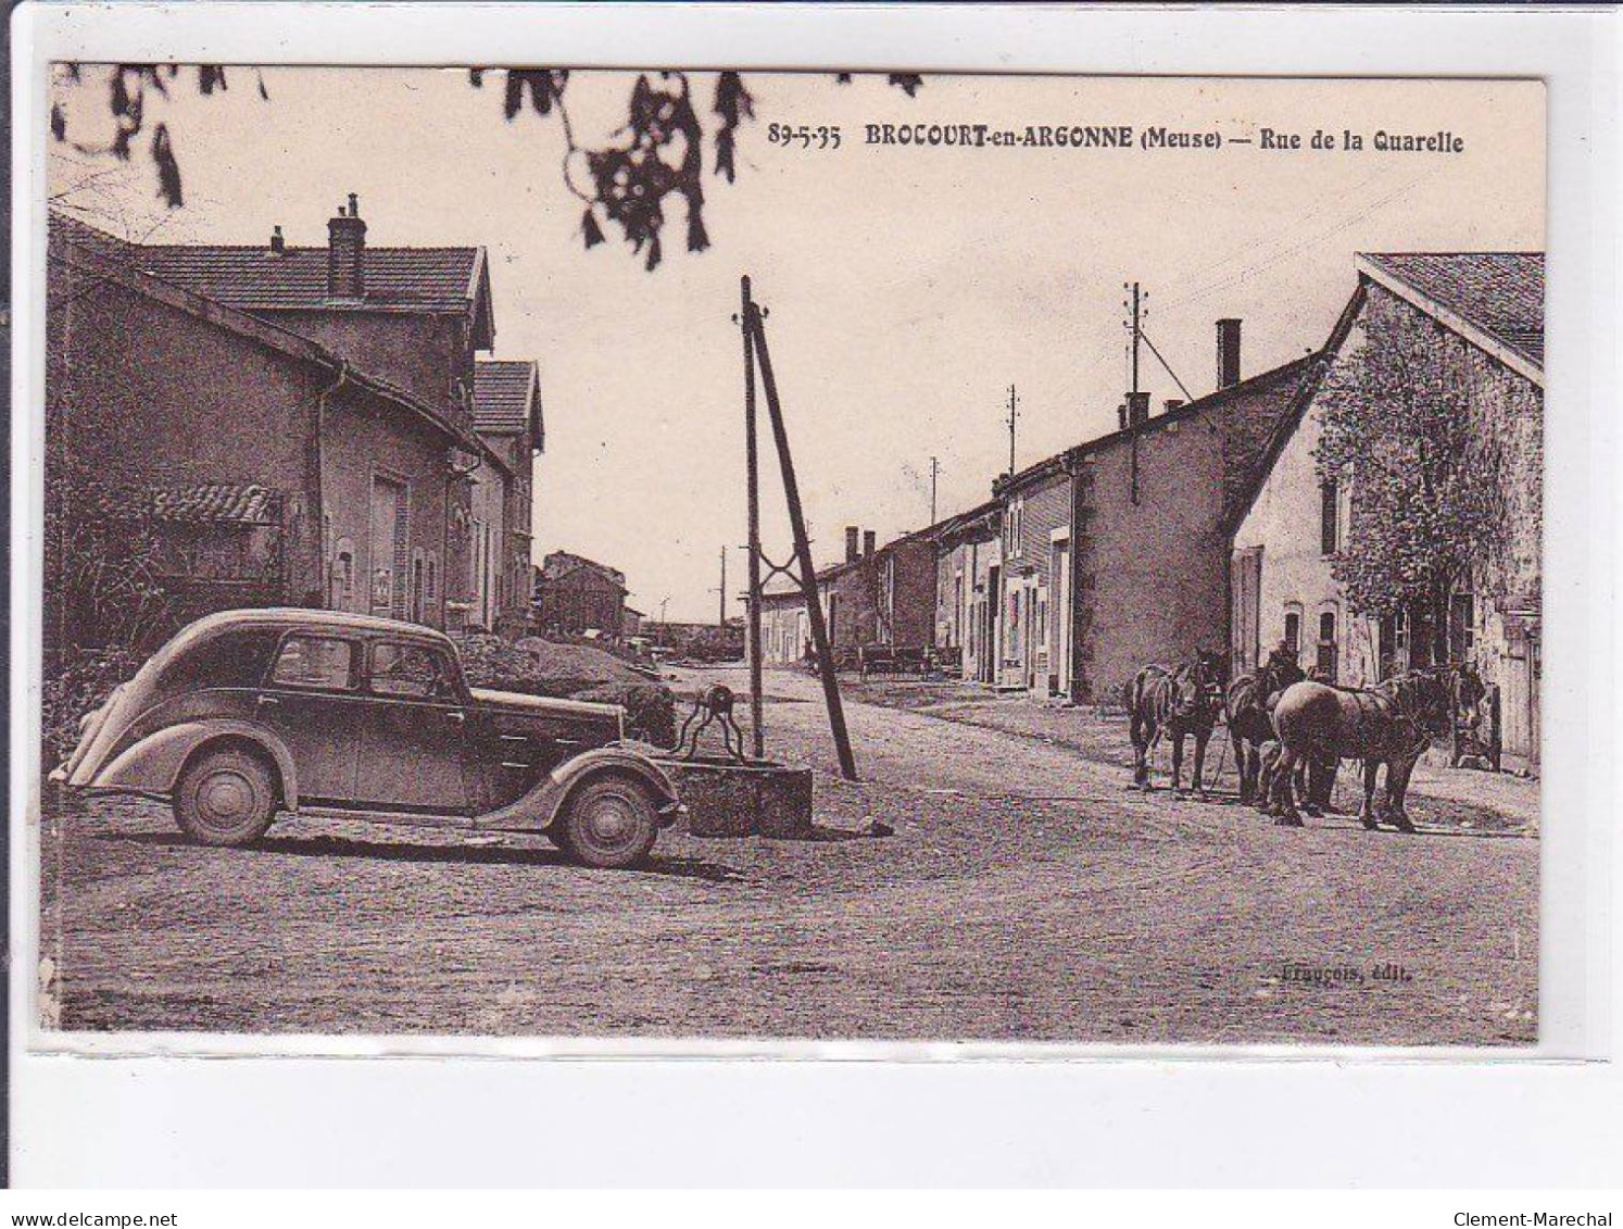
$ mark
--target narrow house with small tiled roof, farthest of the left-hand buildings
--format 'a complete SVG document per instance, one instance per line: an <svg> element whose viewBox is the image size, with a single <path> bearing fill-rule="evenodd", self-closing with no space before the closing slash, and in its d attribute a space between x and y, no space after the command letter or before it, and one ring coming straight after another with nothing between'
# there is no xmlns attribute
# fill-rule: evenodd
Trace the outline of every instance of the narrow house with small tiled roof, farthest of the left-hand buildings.
<svg viewBox="0 0 1623 1229"><path fill-rule="evenodd" d="M472 474L469 623L518 636L531 619L534 458L545 446L534 362L474 365L474 432L495 463Z"/></svg>

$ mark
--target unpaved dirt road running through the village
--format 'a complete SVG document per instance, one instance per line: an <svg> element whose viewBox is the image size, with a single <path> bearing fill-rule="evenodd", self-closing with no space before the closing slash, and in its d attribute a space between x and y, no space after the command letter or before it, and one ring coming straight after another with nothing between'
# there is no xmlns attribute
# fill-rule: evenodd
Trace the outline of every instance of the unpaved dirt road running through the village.
<svg viewBox="0 0 1623 1229"><path fill-rule="evenodd" d="M310 820L214 851L154 804L52 800L50 1002L71 1029L1535 1039L1539 843L1513 815L1422 799L1412 838L1281 830L868 703L854 786L812 680L766 692L771 748L820 770L820 839L677 831L636 872Z"/></svg>

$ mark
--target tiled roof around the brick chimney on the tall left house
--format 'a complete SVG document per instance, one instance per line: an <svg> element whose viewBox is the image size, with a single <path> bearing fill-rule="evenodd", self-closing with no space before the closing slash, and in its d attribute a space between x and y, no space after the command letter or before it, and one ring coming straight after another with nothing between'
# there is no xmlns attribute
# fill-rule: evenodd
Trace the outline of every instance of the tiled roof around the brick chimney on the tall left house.
<svg viewBox="0 0 1623 1229"><path fill-rule="evenodd" d="M333 307L326 248L141 245L131 260L143 273L240 308ZM474 247L367 247L362 282L368 307L422 312L466 310L476 295Z"/></svg>

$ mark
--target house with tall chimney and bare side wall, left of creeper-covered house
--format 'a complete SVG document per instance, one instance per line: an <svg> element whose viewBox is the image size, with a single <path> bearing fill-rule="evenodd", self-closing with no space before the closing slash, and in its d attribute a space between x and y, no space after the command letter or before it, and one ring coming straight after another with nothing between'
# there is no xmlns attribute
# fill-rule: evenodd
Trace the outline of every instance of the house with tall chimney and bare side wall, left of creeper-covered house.
<svg viewBox="0 0 1623 1229"><path fill-rule="evenodd" d="M1115 701L1149 662L1229 643L1225 516L1311 359L1240 378L1240 321L1217 321L1217 390L1149 412L1128 395L1118 429L1005 476L995 664L1000 688Z"/></svg>

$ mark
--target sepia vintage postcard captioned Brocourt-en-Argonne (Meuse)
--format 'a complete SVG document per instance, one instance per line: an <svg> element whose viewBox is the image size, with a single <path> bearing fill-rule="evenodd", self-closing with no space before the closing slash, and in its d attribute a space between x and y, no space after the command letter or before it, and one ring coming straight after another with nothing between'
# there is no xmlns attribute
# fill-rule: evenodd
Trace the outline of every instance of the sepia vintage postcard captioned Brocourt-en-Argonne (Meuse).
<svg viewBox="0 0 1623 1229"><path fill-rule="evenodd" d="M54 1041L1539 1041L1542 83L49 123Z"/></svg>

